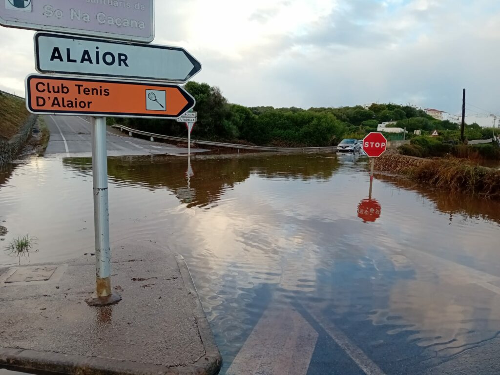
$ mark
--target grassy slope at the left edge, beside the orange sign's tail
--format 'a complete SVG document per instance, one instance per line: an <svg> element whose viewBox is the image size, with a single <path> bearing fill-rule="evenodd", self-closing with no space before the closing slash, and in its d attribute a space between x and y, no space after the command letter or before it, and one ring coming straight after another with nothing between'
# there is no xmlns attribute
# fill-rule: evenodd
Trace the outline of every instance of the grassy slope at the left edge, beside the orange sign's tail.
<svg viewBox="0 0 500 375"><path fill-rule="evenodd" d="M29 113L22 98L0 91L0 139L10 139L26 122Z"/></svg>

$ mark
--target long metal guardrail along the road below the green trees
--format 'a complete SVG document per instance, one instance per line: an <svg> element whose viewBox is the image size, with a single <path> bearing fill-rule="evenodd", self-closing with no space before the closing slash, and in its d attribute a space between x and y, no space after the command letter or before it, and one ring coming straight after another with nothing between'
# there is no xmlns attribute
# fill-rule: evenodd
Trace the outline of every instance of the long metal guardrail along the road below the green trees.
<svg viewBox="0 0 500 375"><path fill-rule="evenodd" d="M120 129L120 131L128 131L128 134L131 136L132 134L140 134L140 135L145 135L150 138L159 138L159 139L166 139L166 140L172 140L172 141L177 141L177 142L186 142L187 143L187 138L181 138L177 136L170 136L170 135L163 135L163 134L156 134L156 133L150 133L147 131L142 131L142 130L137 130L133 129L128 126L124 125L111 125L111 127ZM198 139L192 139L191 142L196 143L196 144L204 144L207 146L215 146L215 147L229 147L229 148L239 148L239 149L252 149L256 151L336 151L337 147L336 146L327 146L327 147L264 147L264 146L250 146L247 144L236 144L236 143L223 143L223 142L212 142L210 140L198 140Z"/></svg>

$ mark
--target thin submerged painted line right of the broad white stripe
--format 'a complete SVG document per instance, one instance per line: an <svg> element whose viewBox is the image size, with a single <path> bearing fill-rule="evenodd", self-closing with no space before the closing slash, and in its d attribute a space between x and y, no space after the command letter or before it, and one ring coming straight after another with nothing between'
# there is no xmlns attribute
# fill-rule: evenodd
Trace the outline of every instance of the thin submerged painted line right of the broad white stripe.
<svg viewBox="0 0 500 375"><path fill-rule="evenodd" d="M305 309L366 375L385 375L375 362L333 323L325 320L321 314L316 313L314 310Z"/></svg>

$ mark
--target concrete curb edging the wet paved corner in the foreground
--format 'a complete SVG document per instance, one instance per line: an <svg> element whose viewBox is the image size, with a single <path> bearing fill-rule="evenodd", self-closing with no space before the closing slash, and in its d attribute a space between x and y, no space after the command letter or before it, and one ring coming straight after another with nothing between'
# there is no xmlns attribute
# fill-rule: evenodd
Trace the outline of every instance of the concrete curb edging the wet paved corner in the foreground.
<svg viewBox="0 0 500 375"><path fill-rule="evenodd" d="M181 255L176 255L175 258L182 281L191 296L194 318L205 350L205 354L196 362L167 367L104 357L0 347L0 368L33 373L50 371L69 375L216 375L222 365L222 357L215 344L187 264Z"/></svg>

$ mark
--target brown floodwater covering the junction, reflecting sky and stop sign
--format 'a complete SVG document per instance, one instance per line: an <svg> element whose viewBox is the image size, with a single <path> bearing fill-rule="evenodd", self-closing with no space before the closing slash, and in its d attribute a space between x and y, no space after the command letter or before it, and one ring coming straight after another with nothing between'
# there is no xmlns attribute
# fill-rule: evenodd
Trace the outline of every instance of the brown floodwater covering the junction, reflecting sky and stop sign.
<svg viewBox="0 0 500 375"><path fill-rule="evenodd" d="M190 168L109 158L111 240L185 257L222 374L500 373L500 203L381 174L368 198L365 165L334 153L196 155ZM29 233L31 263L91 247L92 214L89 158L0 169L0 246ZM0 267L17 263L0 251ZM293 358L264 368L284 341Z"/></svg>

